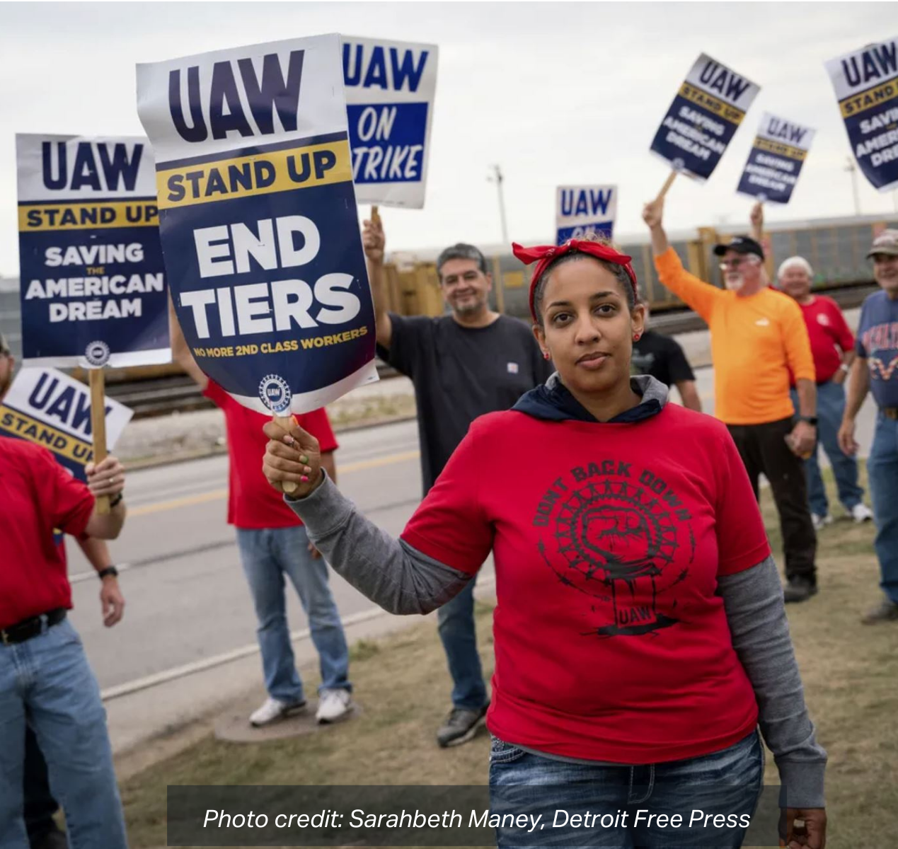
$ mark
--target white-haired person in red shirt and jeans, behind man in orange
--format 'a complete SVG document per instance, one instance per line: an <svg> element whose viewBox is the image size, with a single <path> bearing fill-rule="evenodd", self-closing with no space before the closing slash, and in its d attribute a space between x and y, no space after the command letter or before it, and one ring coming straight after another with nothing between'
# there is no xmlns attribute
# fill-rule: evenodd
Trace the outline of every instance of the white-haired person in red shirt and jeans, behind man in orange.
<svg viewBox="0 0 898 849"><path fill-rule="evenodd" d="M805 317L811 338L814 369L817 378L817 445L805 460L807 495L814 528L820 530L832 523L826 488L817 463L817 447L832 464L832 474L839 490L839 500L854 521L870 521L873 513L863 502L864 490L858 486L858 461L839 447L839 425L845 412L845 378L854 359L854 337L839 304L823 295L811 293L814 277L810 263L803 257L789 257L779 266L779 288L794 298ZM793 402L797 398L792 381Z"/></svg>

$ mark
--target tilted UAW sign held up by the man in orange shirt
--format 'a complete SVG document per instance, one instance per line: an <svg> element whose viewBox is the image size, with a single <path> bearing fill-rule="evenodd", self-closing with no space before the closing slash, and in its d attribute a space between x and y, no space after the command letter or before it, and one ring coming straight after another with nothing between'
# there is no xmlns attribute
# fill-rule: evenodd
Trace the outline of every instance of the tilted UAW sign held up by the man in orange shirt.
<svg viewBox="0 0 898 849"><path fill-rule="evenodd" d="M761 89L704 53L692 66L661 122L651 150L674 171L705 180Z"/></svg>

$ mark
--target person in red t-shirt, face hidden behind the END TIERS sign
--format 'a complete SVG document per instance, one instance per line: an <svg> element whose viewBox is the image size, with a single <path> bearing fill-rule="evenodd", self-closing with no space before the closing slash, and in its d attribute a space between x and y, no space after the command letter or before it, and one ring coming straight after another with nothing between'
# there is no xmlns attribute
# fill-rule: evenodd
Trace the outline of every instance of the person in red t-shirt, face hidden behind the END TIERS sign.
<svg viewBox="0 0 898 849"><path fill-rule="evenodd" d="M170 303L171 307L171 303ZM173 308L172 354L216 407L225 414L228 458L227 521L237 529L243 572L250 584L269 698L250 716L257 727L284 719L305 708L303 681L296 671L290 628L286 620L285 576L293 583L309 617L312 642L321 661L318 722L337 722L353 710L349 683L349 650L339 610L328 583L328 567L309 542L303 523L269 486L260 458L268 438L262 427L270 421L235 401L210 381L190 353ZM323 409L296 416L300 425L321 442L322 462L336 479L333 452L337 440ZM326 460L325 460L326 458Z"/></svg>

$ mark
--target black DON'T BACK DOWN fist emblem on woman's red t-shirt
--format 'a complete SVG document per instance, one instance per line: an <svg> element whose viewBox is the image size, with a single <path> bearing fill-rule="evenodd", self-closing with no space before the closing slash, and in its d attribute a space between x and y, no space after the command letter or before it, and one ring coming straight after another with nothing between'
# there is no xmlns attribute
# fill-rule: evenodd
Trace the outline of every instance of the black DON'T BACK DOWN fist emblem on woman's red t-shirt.
<svg viewBox="0 0 898 849"><path fill-rule="evenodd" d="M677 587L695 557L691 514L647 468L601 460L570 469L542 496L538 548L562 585L588 605L601 637L676 625Z"/></svg>

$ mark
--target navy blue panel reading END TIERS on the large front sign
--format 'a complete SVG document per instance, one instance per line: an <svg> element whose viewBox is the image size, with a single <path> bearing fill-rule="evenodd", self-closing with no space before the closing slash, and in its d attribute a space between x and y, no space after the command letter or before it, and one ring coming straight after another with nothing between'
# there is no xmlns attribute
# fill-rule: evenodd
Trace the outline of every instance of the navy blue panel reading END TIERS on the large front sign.
<svg viewBox="0 0 898 849"><path fill-rule="evenodd" d="M168 208L161 189L160 229L184 336L209 377L261 410L301 412L302 398L373 367L374 309L348 142L329 146L341 148L339 182ZM283 159L271 153L255 158Z"/></svg>

